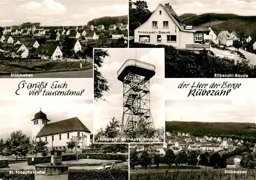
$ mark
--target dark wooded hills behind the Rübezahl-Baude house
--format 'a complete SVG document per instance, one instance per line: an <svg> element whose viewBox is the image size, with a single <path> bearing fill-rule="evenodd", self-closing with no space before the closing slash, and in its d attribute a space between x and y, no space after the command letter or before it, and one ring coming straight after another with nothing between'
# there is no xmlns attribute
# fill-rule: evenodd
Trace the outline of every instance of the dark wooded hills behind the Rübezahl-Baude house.
<svg viewBox="0 0 256 180"><path fill-rule="evenodd" d="M238 34L256 35L256 16L240 16L237 14L205 13L197 16L183 18L186 25L212 26L219 32L222 30L236 31Z"/></svg>

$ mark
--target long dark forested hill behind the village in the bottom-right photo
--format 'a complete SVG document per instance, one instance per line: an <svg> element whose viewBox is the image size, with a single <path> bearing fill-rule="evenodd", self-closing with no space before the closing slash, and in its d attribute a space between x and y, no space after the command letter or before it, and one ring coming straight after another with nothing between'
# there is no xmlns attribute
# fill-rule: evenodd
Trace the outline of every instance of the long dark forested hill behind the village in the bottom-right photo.
<svg viewBox="0 0 256 180"><path fill-rule="evenodd" d="M165 121L165 131L179 131L194 136L210 134L256 138L256 124L254 123Z"/></svg>

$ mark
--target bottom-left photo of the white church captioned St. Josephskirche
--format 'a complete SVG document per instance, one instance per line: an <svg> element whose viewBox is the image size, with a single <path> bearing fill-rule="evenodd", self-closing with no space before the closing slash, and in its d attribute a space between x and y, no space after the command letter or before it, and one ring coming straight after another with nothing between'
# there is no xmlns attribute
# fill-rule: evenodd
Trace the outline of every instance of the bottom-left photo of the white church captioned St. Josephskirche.
<svg viewBox="0 0 256 180"><path fill-rule="evenodd" d="M128 145L93 144L93 99L1 100L0 114L0 179L128 179Z"/></svg>

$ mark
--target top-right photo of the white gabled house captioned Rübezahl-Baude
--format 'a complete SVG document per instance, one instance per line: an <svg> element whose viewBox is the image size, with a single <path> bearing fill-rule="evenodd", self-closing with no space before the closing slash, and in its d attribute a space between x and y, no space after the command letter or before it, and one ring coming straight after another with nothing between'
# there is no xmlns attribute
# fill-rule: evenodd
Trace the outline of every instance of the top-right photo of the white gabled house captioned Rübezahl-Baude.
<svg viewBox="0 0 256 180"><path fill-rule="evenodd" d="M164 47L165 78L255 78L253 0L129 0L129 47Z"/></svg>

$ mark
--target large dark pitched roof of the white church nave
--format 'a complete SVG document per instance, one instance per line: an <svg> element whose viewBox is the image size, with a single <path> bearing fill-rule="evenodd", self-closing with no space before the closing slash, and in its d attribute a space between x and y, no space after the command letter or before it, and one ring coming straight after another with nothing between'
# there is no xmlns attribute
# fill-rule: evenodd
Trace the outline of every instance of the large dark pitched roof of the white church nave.
<svg viewBox="0 0 256 180"><path fill-rule="evenodd" d="M53 123L46 124L42 127L41 131L36 135L36 137L48 136L52 134L60 134L72 131L82 131L91 133L90 130L77 118L65 119L62 121L57 121Z"/></svg>

